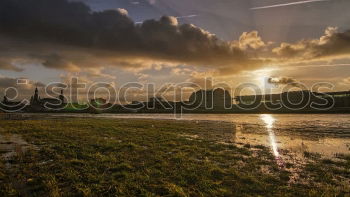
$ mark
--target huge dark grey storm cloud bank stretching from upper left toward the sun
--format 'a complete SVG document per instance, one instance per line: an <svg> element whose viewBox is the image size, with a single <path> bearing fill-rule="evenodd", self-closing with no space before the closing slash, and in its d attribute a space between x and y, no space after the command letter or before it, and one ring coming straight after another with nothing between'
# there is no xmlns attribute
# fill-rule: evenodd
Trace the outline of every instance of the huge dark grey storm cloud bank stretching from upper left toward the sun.
<svg viewBox="0 0 350 197"><path fill-rule="evenodd" d="M67 0L1 0L0 34L32 44L18 48L17 56L35 57L44 66L57 69L99 66L96 59L102 58L105 64L144 58L214 66L230 72L254 68L260 63L250 61L231 42L194 25L179 25L174 17L135 25L125 10L94 12L81 2ZM62 46L70 47L70 52ZM101 51L105 53L101 55ZM82 65L87 61L77 56L84 53L93 56L96 64Z"/></svg>

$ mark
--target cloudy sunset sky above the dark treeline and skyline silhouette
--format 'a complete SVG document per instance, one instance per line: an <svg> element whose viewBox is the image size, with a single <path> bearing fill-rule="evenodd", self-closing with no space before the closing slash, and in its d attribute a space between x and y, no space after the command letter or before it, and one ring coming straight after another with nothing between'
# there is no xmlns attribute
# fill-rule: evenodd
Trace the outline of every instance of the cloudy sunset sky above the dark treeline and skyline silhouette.
<svg viewBox="0 0 350 197"><path fill-rule="evenodd" d="M349 8L348 0L2 0L0 95L71 77L118 88L349 90Z"/></svg>

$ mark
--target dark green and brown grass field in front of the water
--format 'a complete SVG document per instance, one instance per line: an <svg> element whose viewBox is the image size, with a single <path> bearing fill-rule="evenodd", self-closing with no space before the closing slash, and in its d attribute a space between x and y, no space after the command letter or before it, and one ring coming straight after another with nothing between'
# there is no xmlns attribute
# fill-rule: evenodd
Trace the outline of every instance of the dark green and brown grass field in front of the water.
<svg viewBox="0 0 350 197"><path fill-rule="evenodd" d="M0 196L350 195L350 156L305 153L303 165L277 164L268 147L229 143L231 127L170 120L1 121L2 146L12 149L0 152ZM13 135L28 144L16 144ZM5 157L9 151L15 154Z"/></svg>

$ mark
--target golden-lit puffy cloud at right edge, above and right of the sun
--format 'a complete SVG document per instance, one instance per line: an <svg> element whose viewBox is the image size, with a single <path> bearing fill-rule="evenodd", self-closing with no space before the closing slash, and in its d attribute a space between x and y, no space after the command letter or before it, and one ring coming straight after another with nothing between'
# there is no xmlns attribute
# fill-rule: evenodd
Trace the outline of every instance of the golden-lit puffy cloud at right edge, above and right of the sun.
<svg viewBox="0 0 350 197"><path fill-rule="evenodd" d="M273 49L279 57L297 60L333 59L350 53L350 30L338 33L328 27L320 39L302 40L295 44L282 43Z"/></svg>

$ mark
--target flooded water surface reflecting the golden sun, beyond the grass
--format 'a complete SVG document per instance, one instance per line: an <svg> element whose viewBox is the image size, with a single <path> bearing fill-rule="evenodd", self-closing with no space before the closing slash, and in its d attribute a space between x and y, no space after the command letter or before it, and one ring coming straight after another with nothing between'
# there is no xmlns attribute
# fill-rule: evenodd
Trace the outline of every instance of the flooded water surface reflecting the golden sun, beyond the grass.
<svg viewBox="0 0 350 197"><path fill-rule="evenodd" d="M171 119L232 123L233 141L265 145L279 157L281 150L313 152L326 157L350 154L350 115L347 114L54 114L55 117Z"/></svg>

